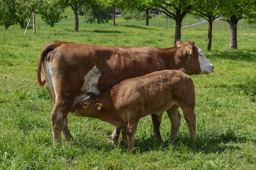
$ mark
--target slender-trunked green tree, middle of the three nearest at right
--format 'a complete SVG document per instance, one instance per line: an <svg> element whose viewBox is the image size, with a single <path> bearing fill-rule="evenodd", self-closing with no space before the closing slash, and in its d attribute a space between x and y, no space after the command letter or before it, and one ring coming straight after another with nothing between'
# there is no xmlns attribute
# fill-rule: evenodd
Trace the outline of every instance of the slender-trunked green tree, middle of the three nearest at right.
<svg viewBox="0 0 256 170"><path fill-rule="evenodd" d="M196 0L194 14L204 17L208 22L208 44L207 50L211 50L212 47L212 23L220 17L221 12L221 0Z"/></svg>

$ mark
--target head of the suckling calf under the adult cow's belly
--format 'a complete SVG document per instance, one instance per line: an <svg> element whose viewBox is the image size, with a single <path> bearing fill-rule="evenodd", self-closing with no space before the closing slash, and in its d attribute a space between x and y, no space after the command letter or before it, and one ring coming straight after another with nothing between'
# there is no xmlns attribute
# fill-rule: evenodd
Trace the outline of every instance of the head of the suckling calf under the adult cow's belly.
<svg viewBox="0 0 256 170"><path fill-rule="evenodd" d="M84 93L76 97L73 103L72 113L76 116L96 116L103 107L102 104L96 103L96 95L93 93Z"/></svg>

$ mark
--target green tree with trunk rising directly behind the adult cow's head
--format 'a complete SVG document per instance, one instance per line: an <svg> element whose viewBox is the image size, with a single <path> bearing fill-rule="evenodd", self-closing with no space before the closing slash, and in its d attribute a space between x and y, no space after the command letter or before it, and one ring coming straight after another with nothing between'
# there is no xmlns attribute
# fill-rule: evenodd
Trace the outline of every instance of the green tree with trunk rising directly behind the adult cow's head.
<svg viewBox="0 0 256 170"><path fill-rule="evenodd" d="M175 39L181 38L181 23L183 18L192 9L194 1L186 0L159 0L156 9L175 20Z"/></svg>

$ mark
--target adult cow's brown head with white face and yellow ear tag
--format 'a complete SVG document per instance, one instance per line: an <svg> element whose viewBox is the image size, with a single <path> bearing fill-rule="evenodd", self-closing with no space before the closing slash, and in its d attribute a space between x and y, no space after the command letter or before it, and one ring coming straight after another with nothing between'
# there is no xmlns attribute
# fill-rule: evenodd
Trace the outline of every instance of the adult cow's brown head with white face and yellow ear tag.
<svg viewBox="0 0 256 170"><path fill-rule="evenodd" d="M213 71L213 65L204 56L203 51L195 45L192 40L183 44L180 40L175 40L176 52L176 64L185 69L186 74L200 75L209 74Z"/></svg>

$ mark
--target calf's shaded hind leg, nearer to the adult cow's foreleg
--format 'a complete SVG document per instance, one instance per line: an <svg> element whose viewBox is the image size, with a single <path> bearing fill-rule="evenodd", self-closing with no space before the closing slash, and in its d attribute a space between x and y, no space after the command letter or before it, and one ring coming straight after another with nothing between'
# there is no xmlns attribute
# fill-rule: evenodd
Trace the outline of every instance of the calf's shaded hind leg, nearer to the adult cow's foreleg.
<svg viewBox="0 0 256 170"><path fill-rule="evenodd" d="M172 130L171 130L171 136L170 136L170 140L169 140L169 142L172 143L172 142L175 142L175 139L176 139L176 136L178 133L178 129L180 126L179 106L177 106L177 105L172 106L172 108L170 108L167 111L167 114L172 122Z"/></svg>

